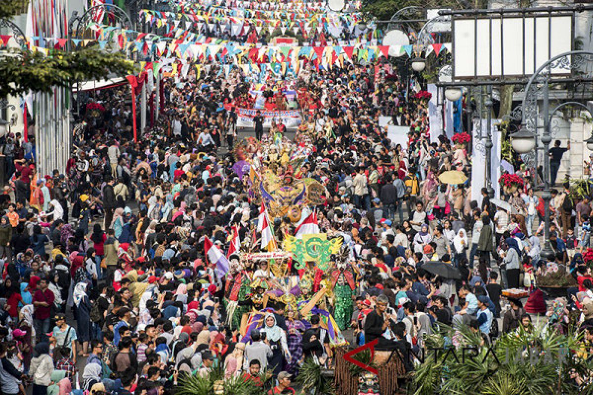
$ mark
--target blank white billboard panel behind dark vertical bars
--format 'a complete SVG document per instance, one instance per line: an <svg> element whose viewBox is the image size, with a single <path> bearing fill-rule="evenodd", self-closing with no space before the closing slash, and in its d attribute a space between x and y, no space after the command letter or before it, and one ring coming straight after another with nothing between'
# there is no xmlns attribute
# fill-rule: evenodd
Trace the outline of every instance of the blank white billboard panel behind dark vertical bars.
<svg viewBox="0 0 593 395"><path fill-rule="evenodd" d="M454 19L453 76L529 76L552 57L572 50L572 15ZM555 68L554 74L570 70Z"/></svg>

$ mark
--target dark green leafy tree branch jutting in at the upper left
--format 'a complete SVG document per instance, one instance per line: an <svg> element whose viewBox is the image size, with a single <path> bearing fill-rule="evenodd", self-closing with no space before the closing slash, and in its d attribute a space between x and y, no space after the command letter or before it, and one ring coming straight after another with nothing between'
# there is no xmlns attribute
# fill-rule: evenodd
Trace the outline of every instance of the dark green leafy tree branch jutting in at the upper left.
<svg viewBox="0 0 593 395"><path fill-rule="evenodd" d="M102 79L132 73L133 63L121 53L103 53L97 47L76 52L14 50L0 58L0 97L20 95L29 90L50 92L52 86L69 86L76 81ZM10 82L11 84L8 84Z"/></svg>

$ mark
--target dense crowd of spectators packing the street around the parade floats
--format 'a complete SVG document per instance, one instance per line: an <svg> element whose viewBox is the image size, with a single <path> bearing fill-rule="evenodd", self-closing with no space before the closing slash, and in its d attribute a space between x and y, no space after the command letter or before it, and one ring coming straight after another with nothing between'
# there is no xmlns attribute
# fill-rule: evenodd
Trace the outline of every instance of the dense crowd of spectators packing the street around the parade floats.
<svg viewBox="0 0 593 395"><path fill-rule="evenodd" d="M554 255L544 256L543 200L530 181L505 194L510 211L487 190L481 204L471 200L469 182L442 182L446 171L470 175L468 147L431 142L425 96L406 95L397 72L374 65L308 65L295 81L294 142L282 121L263 131L260 120L258 139L240 151L235 108L221 105L251 100L237 73L165 81L160 120L138 142L125 92L96 92L88 99L106 111L84 115L63 174L37 174L20 143L3 141L14 174L0 195L2 393L30 385L33 395L173 394L183 375L216 368L270 394L294 393L304 361L333 367L335 346L375 339L399 349L412 371L407 351L440 325L470 326L487 342L530 327L528 313L547 311L541 291L525 307L502 293L533 288L533 274L550 264L572 272L578 285L562 308L584 311L579 325L591 332L588 197L569 185L552 192ZM409 127L406 146L391 143L380 117ZM284 158L286 146L311 152L297 163ZM284 277L272 259L241 258L269 251L262 191L235 166L245 158L253 169L266 163L286 187L323 185L307 208L318 233L342 239L343 255L326 269L293 263ZM274 216L278 249L299 219ZM222 272L209 248L228 255ZM457 278L436 275L436 262Z"/></svg>

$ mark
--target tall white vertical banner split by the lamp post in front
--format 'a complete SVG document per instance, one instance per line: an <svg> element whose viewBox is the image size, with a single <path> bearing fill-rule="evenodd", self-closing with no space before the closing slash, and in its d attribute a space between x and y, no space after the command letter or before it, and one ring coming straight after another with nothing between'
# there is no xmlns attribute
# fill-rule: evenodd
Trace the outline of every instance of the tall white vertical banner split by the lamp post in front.
<svg viewBox="0 0 593 395"><path fill-rule="evenodd" d="M492 155L490 156L490 175L492 176L492 188L494 195L500 198L500 158L502 156L502 132L498 130L496 124L500 120L492 120ZM480 166L479 163L486 163L486 134L488 133L487 120L482 120L482 139L479 131L480 123L478 120L473 122L472 141L473 155L471 162L471 200L476 200L480 207L482 206L482 188L486 187L486 166Z"/></svg>

